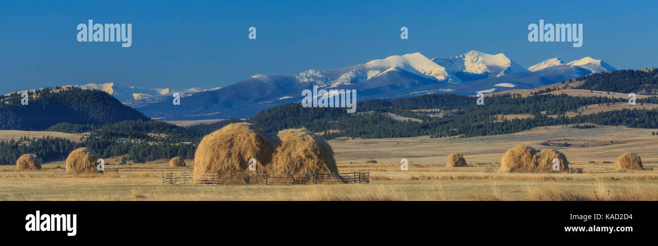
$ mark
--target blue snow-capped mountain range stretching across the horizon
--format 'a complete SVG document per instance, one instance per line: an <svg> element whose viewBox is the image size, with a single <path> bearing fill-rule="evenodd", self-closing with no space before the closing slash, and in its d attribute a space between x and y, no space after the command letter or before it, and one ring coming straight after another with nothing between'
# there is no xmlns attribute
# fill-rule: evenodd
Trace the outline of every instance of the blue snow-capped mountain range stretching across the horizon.
<svg viewBox="0 0 658 246"><path fill-rule="evenodd" d="M193 93L181 105L161 101L136 107L151 118L200 120L249 118L259 111L299 102L303 89L356 89L357 99L411 97L430 93L473 95L477 92L532 89L597 72L616 70L606 62L585 57L565 64L547 59L523 68L505 54L469 51L449 58L421 53L393 55L334 70L299 74L256 74L230 86Z"/></svg>

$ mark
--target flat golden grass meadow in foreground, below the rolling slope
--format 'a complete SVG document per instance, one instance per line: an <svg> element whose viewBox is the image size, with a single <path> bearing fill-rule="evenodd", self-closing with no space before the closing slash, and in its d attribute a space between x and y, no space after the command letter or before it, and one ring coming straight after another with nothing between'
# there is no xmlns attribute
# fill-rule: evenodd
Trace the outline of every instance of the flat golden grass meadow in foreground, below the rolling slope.
<svg viewBox="0 0 658 246"><path fill-rule="evenodd" d="M176 169L167 169L167 162L125 166L120 176L0 172L0 201L658 201L658 172L650 171L526 174L427 167L401 172L392 166L371 171L371 184L163 185L157 170Z"/></svg>

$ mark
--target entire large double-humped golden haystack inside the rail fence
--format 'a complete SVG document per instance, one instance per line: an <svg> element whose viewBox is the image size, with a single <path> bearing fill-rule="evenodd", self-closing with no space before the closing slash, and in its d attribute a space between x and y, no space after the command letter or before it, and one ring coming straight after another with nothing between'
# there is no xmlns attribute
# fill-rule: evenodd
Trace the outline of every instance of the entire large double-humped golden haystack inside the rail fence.
<svg viewBox="0 0 658 246"><path fill-rule="evenodd" d="M257 160L249 171L249 159ZM336 173L334 151L326 141L303 129L276 136L240 122L206 135L194 156L194 174L313 174Z"/></svg>

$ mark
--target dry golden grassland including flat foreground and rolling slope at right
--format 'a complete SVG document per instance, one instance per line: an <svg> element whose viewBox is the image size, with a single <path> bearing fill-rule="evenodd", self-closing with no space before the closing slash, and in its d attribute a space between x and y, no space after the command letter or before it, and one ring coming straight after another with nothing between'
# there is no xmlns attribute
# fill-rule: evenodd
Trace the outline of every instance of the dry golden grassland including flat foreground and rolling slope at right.
<svg viewBox="0 0 658 246"><path fill-rule="evenodd" d="M0 200L240 200L240 201L658 201L658 130L597 126L542 127L516 134L468 138L410 137L332 140L341 172L368 171L370 184L334 185L163 185L168 160L146 164L109 164L118 175L55 175L64 162L43 164L40 171L0 166ZM567 145L564 145L564 142ZM525 143L536 149L557 149L582 174L484 172L507 149ZM621 153L637 153L655 171L615 172ZM446 168L449 153L462 153L467 167ZM399 160L409 159L401 171ZM106 159L114 162L114 158ZM376 160L377 163L367 162Z"/></svg>

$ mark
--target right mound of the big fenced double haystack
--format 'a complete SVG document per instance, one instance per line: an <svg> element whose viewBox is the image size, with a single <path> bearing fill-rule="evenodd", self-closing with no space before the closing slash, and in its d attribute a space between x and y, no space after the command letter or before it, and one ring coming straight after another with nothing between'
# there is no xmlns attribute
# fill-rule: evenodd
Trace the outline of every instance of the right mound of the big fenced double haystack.
<svg viewBox="0 0 658 246"><path fill-rule="evenodd" d="M270 174L338 173L334 150L323 139L305 129L286 129L276 135L280 145L274 149Z"/></svg>

